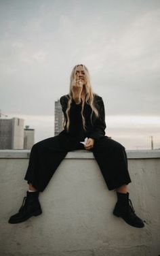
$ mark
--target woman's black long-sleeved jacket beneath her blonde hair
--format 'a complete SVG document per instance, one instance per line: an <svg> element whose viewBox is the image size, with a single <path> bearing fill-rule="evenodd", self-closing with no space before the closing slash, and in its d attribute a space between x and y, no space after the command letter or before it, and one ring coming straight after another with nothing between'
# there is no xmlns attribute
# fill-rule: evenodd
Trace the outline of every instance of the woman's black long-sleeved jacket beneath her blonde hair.
<svg viewBox="0 0 160 256"><path fill-rule="evenodd" d="M60 97L60 103L62 105L62 111L64 113L64 118L67 121L66 117L66 108L68 104L69 95L64 95ZM77 138L77 140L83 140L85 137L93 138L94 140L98 140L105 135L105 110L104 103L102 97L94 94L94 106L98 110L99 116L96 118L96 115L92 114L92 108L89 104L85 103L83 116L85 117L85 127L86 131L83 129L83 122L81 118L81 105L82 101L79 104L76 104L74 99L71 102L71 108L69 111L70 116L70 127L69 131L66 131L66 125L64 130L60 134L71 135L71 137ZM91 121L92 116L92 121Z"/></svg>

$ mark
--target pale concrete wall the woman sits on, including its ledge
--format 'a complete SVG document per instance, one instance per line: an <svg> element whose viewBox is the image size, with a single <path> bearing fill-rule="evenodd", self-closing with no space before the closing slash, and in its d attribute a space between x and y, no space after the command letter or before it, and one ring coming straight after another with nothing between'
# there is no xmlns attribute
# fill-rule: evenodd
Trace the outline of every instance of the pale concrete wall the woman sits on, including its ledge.
<svg viewBox="0 0 160 256"><path fill-rule="evenodd" d="M28 186L23 180L29 150L0 150L2 256L158 256L160 255L160 151L127 151L129 197L143 229L112 214L117 200L108 191L92 155L68 153L40 194L43 214L7 223L18 212Z"/></svg>

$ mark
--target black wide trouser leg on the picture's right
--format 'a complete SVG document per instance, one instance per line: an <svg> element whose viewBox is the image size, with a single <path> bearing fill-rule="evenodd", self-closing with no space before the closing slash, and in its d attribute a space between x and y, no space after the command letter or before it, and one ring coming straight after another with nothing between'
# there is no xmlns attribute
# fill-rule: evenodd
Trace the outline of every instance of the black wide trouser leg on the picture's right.
<svg viewBox="0 0 160 256"><path fill-rule="evenodd" d="M124 146L108 137L100 138L93 148L108 190L117 189L131 182Z"/></svg>

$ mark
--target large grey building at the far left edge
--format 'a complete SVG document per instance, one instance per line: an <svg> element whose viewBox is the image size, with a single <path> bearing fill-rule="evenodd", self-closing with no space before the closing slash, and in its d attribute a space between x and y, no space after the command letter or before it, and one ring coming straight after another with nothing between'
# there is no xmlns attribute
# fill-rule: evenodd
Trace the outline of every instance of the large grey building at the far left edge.
<svg viewBox="0 0 160 256"><path fill-rule="evenodd" d="M23 149L24 120L0 118L0 149Z"/></svg>

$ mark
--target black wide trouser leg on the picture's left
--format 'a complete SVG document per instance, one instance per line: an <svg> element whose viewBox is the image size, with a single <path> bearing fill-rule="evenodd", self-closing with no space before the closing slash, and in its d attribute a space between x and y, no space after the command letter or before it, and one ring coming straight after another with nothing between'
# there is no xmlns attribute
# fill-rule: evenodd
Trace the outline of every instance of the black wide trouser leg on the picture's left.
<svg viewBox="0 0 160 256"><path fill-rule="evenodd" d="M37 142L31 149L24 180L43 191L68 151L81 148L82 144L59 135Z"/></svg>

